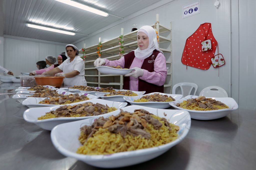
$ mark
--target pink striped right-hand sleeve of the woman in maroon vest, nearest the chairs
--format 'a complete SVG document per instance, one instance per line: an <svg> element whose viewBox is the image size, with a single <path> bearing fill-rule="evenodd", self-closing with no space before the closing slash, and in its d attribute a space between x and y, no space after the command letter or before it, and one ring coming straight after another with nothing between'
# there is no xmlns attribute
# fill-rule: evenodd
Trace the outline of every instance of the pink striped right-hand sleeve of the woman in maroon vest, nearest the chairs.
<svg viewBox="0 0 256 170"><path fill-rule="evenodd" d="M143 71L143 76L140 77L141 80L155 84L157 86L162 86L167 76L166 61L164 55L162 53L157 55L154 62L154 72L149 72L147 70Z"/></svg>

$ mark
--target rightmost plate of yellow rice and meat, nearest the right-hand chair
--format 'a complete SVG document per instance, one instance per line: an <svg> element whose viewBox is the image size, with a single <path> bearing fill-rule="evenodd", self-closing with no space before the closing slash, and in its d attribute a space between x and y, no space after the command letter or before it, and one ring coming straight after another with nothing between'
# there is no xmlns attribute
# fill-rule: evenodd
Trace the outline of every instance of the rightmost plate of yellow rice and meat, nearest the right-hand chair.
<svg viewBox="0 0 256 170"><path fill-rule="evenodd" d="M238 109L231 97L205 97L189 95L169 103L175 109L186 110L192 119L212 120L227 116Z"/></svg>

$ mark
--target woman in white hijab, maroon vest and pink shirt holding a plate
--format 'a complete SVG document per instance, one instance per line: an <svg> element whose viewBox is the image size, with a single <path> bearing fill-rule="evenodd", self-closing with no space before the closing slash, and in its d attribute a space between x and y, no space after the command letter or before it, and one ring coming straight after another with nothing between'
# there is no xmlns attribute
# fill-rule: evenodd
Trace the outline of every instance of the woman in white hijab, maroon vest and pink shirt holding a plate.
<svg viewBox="0 0 256 170"><path fill-rule="evenodd" d="M124 77L124 89L134 91L164 92L167 75L166 60L159 50L155 30L145 25L137 32L136 50L124 55L119 60L110 61L98 58L94 66L121 66L135 69Z"/></svg>

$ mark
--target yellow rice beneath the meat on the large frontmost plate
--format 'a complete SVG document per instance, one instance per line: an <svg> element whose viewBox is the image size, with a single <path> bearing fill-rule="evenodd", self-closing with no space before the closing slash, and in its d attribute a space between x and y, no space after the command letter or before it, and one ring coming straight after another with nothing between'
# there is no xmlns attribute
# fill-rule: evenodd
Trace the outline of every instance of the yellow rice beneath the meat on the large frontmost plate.
<svg viewBox="0 0 256 170"><path fill-rule="evenodd" d="M160 121L160 117L151 115ZM92 137L87 139L87 136L81 132L79 141L83 144L77 150L77 153L98 155L98 154L112 154L116 152L132 151L137 149L151 148L160 145L164 145L177 139L177 133L174 125L170 123L171 130L169 127L164 125L164 121L160 121L163 126L159 129L154 129L154 126L147 124L144 128L145 131L151 134L150 139L144 137L126 134L123 138L120 133L115 134L108 131L108 128L99 128Z"/></svg>

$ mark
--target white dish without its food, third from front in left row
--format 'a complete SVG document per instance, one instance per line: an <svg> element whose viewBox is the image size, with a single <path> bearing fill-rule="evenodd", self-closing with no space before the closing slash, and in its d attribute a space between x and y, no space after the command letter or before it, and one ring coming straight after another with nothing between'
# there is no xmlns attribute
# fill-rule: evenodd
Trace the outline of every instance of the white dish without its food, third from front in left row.
<svg viewBox="0 0 256 170"><path fill-rule="evenodd" d="M82 94L85 95L90 99L97 99L99 98L98 96L93 96L90 94ZM35 107L48 107L48 106L63 106L63 104L39 104L39 101L42 101L44 99L47 99L47 97L29 97L27 99L25 99L22 104L24 106L27 106L29 108L35 108ZM85 100L85 101L89 101L89 100ZM80 102L76 102L76 104L80 104L83 103L84 101L80 101ZM72 104L72 103L71 103Z"/></svg>

